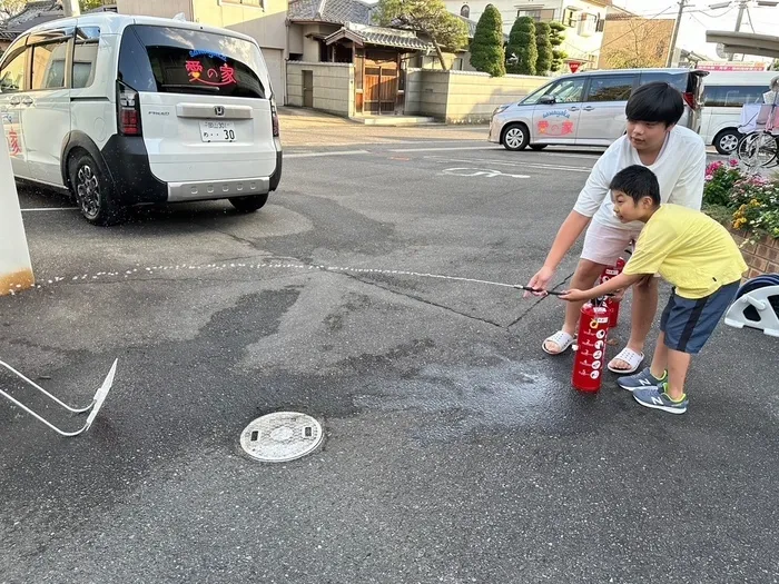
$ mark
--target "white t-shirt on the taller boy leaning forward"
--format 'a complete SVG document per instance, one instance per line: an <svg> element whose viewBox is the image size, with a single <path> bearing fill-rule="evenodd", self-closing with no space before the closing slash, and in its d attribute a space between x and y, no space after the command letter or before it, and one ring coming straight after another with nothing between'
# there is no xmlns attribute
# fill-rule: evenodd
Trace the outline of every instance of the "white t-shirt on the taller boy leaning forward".
<svg viewBox="0 0 779 584"><path fill-rule="evenodd" d="M614 217L609 185L614 175L632 165L645 166L627 136L622 136L603 152L579 194L573 210L592 217L593 222L640 231L641 221L621 222ZM706 143L696 132L674 126L653 165L647 167L658 177L662 202L672 202L700 210L706 178Z"/></svg>

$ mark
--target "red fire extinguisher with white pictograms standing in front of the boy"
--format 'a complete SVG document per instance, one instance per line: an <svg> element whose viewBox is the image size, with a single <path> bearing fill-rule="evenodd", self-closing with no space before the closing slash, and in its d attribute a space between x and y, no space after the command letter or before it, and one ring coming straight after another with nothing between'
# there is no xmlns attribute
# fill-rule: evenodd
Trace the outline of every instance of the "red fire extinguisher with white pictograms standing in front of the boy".
<svg viewBox="0 0 779 584"><path fill-rule="evenodd" d="M598 304L584 304L579 317L578 348L571 378L573 387L580 392L598 392L601 388L608 336L609 309Z"/></svg>

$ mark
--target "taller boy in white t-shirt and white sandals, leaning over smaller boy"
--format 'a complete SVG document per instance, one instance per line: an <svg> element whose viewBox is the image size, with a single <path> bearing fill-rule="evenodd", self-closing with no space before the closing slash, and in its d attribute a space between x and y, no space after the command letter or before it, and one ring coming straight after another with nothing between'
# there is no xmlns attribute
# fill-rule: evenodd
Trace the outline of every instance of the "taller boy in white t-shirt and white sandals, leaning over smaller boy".
<svg viewBox="0 0 779 584"><path fill-rule="evenodd" d="M560 261L585 228L581 259L570 288L591 288L603 269L613 265L630 242L638 239L643 224L620 222L614 217L609 192L609 185L617 172L629 166L642 165L655 174L662 202L700 209L706 176L706 145L692 130L677 126L683 112L682 96L669 83L647 83L633 91L625 107L627 135L599 158L573 210L560 227L544 266L531 278L529 286L546 289ZM562 329L544 340L543 349L546 353L559 355L571 346L582 304L568 303ZM657 308L657 278L637 284L633 287L630 340L609 363L609 369L620 374L638 370L643 362L643 345Z"/></svg>

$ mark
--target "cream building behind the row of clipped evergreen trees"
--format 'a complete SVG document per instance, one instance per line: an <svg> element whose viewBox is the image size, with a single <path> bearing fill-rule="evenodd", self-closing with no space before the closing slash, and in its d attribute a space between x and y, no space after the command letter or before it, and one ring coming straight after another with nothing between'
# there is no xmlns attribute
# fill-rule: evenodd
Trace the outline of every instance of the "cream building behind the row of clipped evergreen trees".
<svg viewBox="0 0 779 584"><path fill-rule="evenodd" d="M561 49L569 62L580 69L595 69L603 42L603 24L611 0L445 0L450 12L477 21L492 4L503 17L503 32L509 34L519 17L536 22L558 21L565 26Z"/></svg>

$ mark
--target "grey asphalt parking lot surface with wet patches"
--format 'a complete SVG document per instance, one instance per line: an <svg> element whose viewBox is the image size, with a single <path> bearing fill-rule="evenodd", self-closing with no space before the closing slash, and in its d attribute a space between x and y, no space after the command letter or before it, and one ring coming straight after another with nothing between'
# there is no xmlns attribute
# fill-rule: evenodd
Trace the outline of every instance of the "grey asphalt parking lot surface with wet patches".
<svg viewBox="0 0 779 584"><path fill-rule="evenodd" d="M598 150L447 131L302 139L253 215L106 229L21 189L39 288L0 298L0 358L71 403L119 364L78 438L0 403L0 582L779 581L779 339L721 325L683 416L611 374L578 393L541 350L563 304L510 285ZM322 447L250 459L245 426L290 409Z"/></svg>

